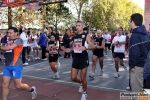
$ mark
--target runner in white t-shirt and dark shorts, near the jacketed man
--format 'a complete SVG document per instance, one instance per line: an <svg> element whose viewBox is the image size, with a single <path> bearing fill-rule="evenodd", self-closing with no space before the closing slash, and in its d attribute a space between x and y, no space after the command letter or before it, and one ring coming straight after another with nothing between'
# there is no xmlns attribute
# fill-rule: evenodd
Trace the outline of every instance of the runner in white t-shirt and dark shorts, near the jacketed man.
<svg viewBox="0 0 150 100"><path fill-rule="evenodd" d="M125 44L126 44L126 36L122 35L123 28L118 28L118 34L114 37L112 41L112 45L115 46L114 49L114 58L115 58L115 68L116 68L116 75L115 78L118 78L119 75L119 67L118 62L120 60L120 65L123 66L125 70L127 70L127 67L124 65L123 58L125 58L124 52L125 52Z"/></svg>

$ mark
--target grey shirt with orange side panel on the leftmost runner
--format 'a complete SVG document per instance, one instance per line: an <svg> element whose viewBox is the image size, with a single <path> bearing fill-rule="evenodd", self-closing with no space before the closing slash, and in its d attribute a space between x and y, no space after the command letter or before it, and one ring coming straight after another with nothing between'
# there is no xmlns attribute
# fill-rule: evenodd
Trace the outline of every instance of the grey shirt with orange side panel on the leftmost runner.
<svg viewBox="0 0 150 100"><path fill-rule="evenodd" d="M10 41L8 41L8 42L10 42ZM16 40L12 41L12 44L17 44L18 46L15 47L13 50L8 50L8 52L6 51L6 53L4 54L5 65L6 66L23 67L23 62L20 57L22 49L23 49L23 40L21 38L18 38Z"/></svg>

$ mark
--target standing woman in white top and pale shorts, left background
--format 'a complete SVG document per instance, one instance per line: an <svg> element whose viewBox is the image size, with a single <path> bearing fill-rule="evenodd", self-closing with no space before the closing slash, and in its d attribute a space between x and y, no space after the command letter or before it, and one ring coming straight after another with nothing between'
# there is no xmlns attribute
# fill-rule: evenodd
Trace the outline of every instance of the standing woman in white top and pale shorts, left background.
<svg viewBox="0 0 150 100"><path fill-rule="evenodd" d="M38 44L37 44L38 37L37 37L35 31L32 32L31 39L32 39L31 47L33 48L33 55L34 55L34 58L35 58L35 60L36 60L36 59L40 59L39 56L38 56L38 54L39 54L39 51L38 51Z"/></svg>

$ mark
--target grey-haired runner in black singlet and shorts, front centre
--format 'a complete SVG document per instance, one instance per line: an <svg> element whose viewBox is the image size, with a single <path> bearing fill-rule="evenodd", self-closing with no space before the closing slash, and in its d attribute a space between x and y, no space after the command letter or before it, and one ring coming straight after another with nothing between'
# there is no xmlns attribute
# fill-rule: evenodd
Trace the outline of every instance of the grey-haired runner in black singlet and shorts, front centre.
<svg viewBox="0 0 150 100"><path fill-rule="evenodd" d="M73 38L74 59L71 69L71 80L81 84L79 87L79 92L82 92L81 100L86 100L87 98L86 73L87 67L89 65L87 50L94 49L94 44L91 42L91 37L87 35L87 33L83 32L83 28L84 23L82 21L77 21L76 22L77 34ZM79 70L81 70L80 74L81 79L77 77Z"/></svg>

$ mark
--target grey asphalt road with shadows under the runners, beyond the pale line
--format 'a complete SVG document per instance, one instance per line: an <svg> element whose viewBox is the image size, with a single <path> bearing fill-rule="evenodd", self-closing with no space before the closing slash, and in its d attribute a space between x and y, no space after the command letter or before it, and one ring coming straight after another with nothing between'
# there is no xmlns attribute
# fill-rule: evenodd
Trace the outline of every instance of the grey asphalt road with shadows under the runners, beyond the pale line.
<svg viewBox="0 0 150 100"><path fill-rule="evenodd" d="M61 52L61 55L62 56L59 58L61 64L59 68L60 79L52 79L53 72L49 67L48 61L42 60L30 61L28 66L24 66L23 77L48 82L56 82L60 84L67 84L70 86L79 86L79 84L72 82L70 79L72 59L63 58L63 52ZM120 66L120 77L114 78L116 71L114 67L114 61L111 60L111 52L109 52L108 56L105 56L104 58L103 76L99 76L100 67L99 63L97 62L95 79L89 78L89 75L92 73L91 58L92 52L90 51L89 52L90 65L88 67L87 72L88 88L96 90L116 91L116 92L126 91L125 89L128 86L129 82L129 71L128 70L125 71L124 68ZM128 66L127 61L125 61L125 64ZM3 67L4 65L0 64L0 72L3 71Z"/></svg>

